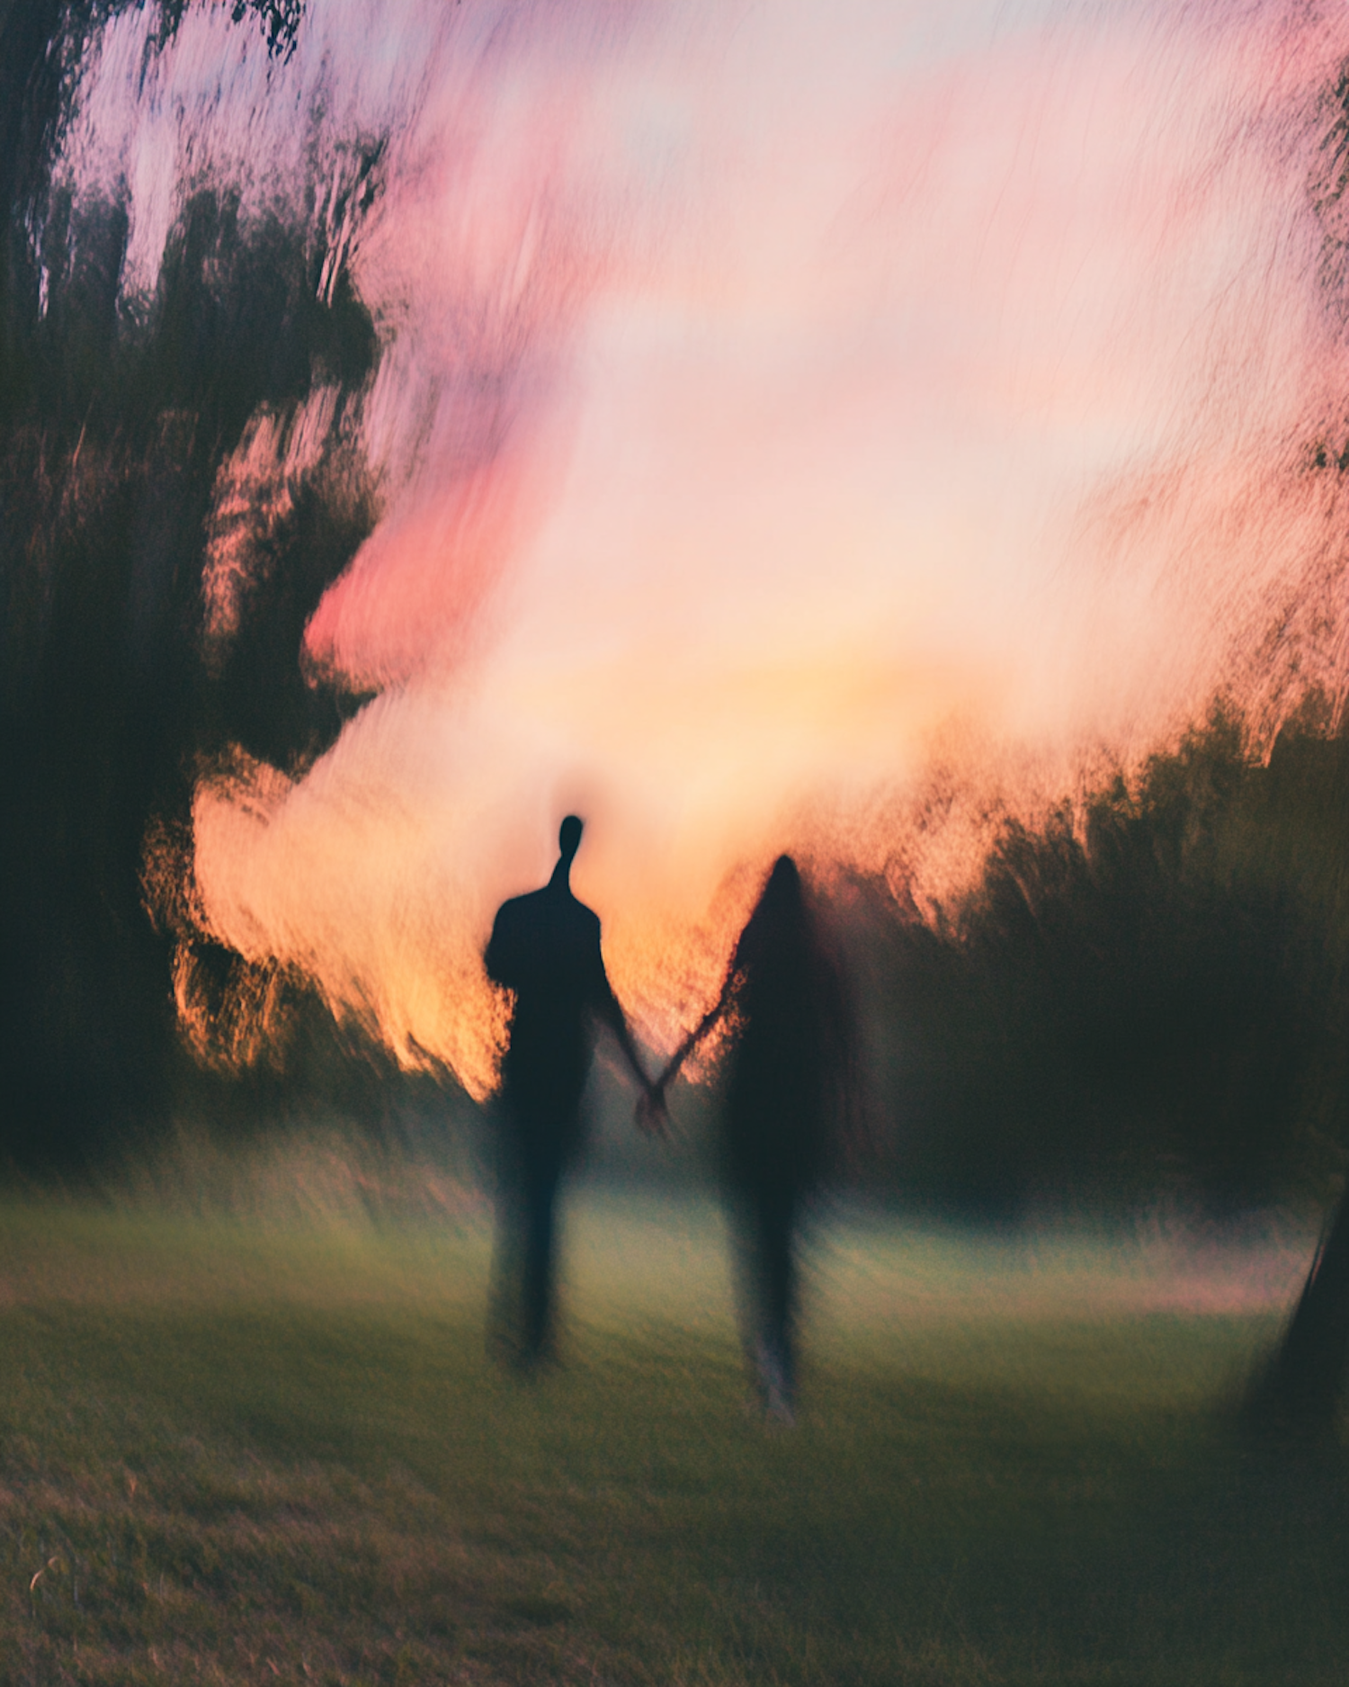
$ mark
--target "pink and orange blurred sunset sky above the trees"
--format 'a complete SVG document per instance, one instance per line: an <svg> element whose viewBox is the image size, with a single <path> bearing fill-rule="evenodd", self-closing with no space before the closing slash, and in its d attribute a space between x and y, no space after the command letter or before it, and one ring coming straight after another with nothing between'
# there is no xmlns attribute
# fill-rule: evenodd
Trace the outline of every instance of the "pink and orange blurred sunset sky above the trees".
<svg viewBox="0 0 1349 1687"><path fill-rule="evenodd" d="M931 906L990 815L1342 673L1341 7L310 0L285 64L216 7L143 73L145 29L66 148L130 288L202 172L260 213L386 140L381 520L307 633L378 695L194 828L212 928L408 1058L491 1086L481 948L567 811L669 1046L779 850Z"/></svg>

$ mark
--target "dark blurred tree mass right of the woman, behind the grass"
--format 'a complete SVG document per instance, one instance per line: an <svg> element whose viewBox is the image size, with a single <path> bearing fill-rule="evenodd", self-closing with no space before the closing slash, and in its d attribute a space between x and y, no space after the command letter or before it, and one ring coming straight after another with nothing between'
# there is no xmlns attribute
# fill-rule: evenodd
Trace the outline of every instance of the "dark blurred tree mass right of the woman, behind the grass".
<svg viewBox="0 0 1349 1687"><path fill-rule="evenodd" d="M873 889L887 1179L993 1213L1324 1196L1347 1145L1346 840L1325 703L1268 761L1219 705L1137 776L1008 820L932 921Z"/></svg>

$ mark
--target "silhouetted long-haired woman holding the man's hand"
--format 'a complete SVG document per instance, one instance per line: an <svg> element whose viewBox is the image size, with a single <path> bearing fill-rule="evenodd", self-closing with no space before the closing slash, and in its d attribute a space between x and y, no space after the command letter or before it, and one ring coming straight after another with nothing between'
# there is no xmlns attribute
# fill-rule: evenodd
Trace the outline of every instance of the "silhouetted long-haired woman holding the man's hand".
<svg viewBox="0 0 1349 1687"><path fill-rule="evenodd" d="M789 855L777 857L722 994L671 1056L659 1093L718 1021L734 1036L720 1157L742 1334L764 1409L791 1422L798 1235L841 1118L846 1019Z"/></svg>

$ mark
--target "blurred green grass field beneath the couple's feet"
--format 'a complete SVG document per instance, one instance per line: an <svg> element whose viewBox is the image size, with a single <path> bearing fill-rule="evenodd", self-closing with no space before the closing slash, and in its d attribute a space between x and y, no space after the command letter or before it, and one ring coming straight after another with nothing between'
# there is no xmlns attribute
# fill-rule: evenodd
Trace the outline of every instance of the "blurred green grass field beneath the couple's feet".
<svg viewBox="0 0 1349 1687"><path fill-rule="evenodd" d="M572 1206L567 1365L487 1235L0 1210L0 1682L1341 1684L1347 1456L1226 1410L1292 1248L820 1240L796 1429L696 1199Z"/></svg>

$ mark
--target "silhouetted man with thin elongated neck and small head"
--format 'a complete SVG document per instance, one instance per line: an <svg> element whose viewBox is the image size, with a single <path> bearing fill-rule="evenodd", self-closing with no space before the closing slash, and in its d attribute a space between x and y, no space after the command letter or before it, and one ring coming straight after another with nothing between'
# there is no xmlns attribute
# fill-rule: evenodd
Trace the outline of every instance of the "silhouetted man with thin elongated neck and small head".
<svg viewBox="0 0 1349 1687"><path fill-rule="evenodd" d="M580 1147L580 1097L597 1022L614 1032L651 1103L642 1117L656 1129L661 1120L659 1097L609 987L600 923L572 894L580 833L580 820L568 815L553 877L501 904L484 957L487 977L514 992L501 1066L494 1336L511 1341L523 1365L551 1356L556 1193Z"/></svg>

